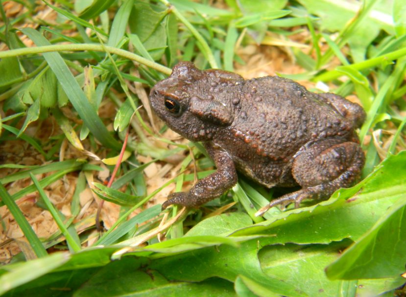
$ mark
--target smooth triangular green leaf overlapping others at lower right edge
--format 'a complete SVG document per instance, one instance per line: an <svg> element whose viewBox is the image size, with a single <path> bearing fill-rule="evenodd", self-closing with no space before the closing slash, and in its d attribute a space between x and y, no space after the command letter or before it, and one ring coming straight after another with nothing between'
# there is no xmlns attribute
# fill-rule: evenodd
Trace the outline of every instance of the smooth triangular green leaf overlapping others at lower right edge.
<svg viewBox="0 0 406 297"><path fill-rule="evenodd" d="M406 266L406 195L339 259L327 267L331 279L400 276Z"/></svg>

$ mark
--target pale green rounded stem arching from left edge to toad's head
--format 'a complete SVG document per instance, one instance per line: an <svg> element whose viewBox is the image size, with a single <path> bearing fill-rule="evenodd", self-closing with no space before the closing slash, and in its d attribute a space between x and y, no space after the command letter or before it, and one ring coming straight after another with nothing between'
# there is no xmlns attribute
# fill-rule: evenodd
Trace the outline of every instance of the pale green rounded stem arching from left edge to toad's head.
<svg viewBox="0 0 406 297"><path fill-rule="evenodd" d="M164 74L170 75L172 73L172 69L165 67L161 64L149 61L149 60L147 60L139 55L136 55L134 53L131 53L129 51L126 51L126 50L123 50L123 49L120 49L117 47L113 47L113 46L92 44L92 43L52 44L52 45L37 46L37 47L18 48L18 49L0 52L0 59L29 55L29 54L55 52L55 51L86 51L86 50L93 50L93 51L98 51L98 52L108 52L110 54L116 54L123 58L127 58L129 60L136 61L140 64L153 68Z"/></svg>

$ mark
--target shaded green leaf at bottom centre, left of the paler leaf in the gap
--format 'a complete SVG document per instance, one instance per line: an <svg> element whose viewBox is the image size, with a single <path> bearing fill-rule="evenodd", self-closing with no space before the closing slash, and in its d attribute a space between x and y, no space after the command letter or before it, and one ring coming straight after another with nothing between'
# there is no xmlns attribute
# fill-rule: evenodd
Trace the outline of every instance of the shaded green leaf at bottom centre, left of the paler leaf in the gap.
<svg viewBox="0 0 406 297"><path fill-rule="evenodd" d="M150 268L172 281L202 281L210 277L235 281L237 276L245 276L266 290L266 295L262 296L307 296L283 280L263 273L257 255L261 244L254 239L241 243L239 247L221 245L167 256L154 260Z"/></svg>

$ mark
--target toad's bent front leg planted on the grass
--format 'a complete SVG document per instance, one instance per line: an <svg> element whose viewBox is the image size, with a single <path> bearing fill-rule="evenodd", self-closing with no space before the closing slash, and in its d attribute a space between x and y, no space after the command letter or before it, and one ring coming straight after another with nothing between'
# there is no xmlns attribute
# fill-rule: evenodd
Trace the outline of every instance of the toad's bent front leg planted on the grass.
<svg viewBox="0 0 406 297"><path fill-rule="evenodd" d="M169 199L162 205L163 210L171 204L198 207L221 196L237 183L237 171L231 157L225 151L211 145L211 143L206 143L205 148L215 161L217 170L199 180L190 191L170 194Z"/></svg>

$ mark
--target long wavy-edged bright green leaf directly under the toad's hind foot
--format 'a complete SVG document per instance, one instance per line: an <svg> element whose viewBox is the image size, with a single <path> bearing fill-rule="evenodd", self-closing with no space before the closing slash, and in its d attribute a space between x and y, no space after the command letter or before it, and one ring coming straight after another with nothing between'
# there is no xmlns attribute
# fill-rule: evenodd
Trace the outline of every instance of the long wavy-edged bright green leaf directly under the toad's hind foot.
<svg viewBox="0 0 406 297"><path fill-rule="evenodd" d="M357 186L341 189L315 206L276 214L234 235L273 235L272 242L330 243L357 240L406 192L406 151L390 156ZM343 222L345 218L345 222Z"/></svg>

